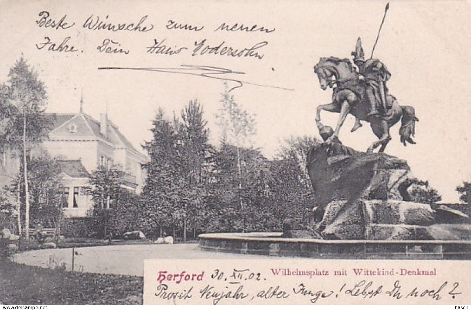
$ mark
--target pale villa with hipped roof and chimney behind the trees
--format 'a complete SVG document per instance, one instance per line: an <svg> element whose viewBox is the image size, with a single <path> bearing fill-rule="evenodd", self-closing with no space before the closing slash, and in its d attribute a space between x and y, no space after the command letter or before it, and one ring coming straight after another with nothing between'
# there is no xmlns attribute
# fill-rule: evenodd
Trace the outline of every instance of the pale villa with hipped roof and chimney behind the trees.
<svg viewBox="0 0 471 310"><path fill-rule="evenodd" d="M65 218L89 216L93 206L89 175L99 166L118 165L125 172L123 187L140 193L145 180L142 165L146 155L124 137L107 114L100 121L83 113L47 113L53 119L48 138L40 149L58 159L62 167ZM0 185L11 184L19 159L8 150L0 151Z"/></svg>

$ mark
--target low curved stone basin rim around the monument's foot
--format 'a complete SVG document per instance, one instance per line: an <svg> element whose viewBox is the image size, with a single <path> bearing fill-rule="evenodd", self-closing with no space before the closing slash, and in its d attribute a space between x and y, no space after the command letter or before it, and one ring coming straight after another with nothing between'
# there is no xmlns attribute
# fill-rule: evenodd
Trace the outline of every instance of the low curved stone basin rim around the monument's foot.
<svg viewBox="0 0 471 310"><path fill-rule="evenodd" d="M199 248L235 254L316 259L470 260L469 240L319 240L283 233L199 235Z"/></svg>

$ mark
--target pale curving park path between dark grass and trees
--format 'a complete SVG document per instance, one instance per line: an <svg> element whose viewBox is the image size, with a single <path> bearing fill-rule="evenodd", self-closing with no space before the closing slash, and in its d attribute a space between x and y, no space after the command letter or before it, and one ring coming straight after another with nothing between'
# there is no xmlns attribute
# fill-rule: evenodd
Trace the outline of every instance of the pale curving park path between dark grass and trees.
<svg viewBox="0 0 471 310"><path fill-rule="evenodd" d="M134 244L75 248L75 270L88 273L143 276L143 260L173 259L260 259L259 255L217 253L203 251L196 243ZM263 259L275 257L263 256ZM28 251L14 256L21 264L54 268L65 263L72 269L72 249Z"/></svg>

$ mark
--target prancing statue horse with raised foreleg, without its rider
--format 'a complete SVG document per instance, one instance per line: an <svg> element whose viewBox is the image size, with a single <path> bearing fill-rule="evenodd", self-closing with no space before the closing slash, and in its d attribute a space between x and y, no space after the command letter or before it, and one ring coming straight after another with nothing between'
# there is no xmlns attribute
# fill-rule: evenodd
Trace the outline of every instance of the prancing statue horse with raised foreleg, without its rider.
<svg viewBox="0 0 471 310"><path fill-rule="evenodd" d="M401 142L415 144L411 137L415 134L415 110L411 106L400 106L394 96L386 97L387 106L390 107L387 113L382 109L382 104L377 102L379 111L382 116L367 116L370 104L366 99L365 81L357 73L349 59L340 59L336 57L323 57L319 63L314 66L314 72L319 78L322 90L327 87L336 87L333 91L332 103L321 104L317 107L316 124L319 131L324 127L321 123L322 110L340 113L337 126L333 134L326 139L327 142L340 142L338 139L340 129L348 114L351 114L361 120L370 123L371 129L379 140L373 142L368 148L368 152L373 152L381 145L380 152L384 151L391 140L389 129L394 126L402 118L402 126L399 129Z"/></svg>

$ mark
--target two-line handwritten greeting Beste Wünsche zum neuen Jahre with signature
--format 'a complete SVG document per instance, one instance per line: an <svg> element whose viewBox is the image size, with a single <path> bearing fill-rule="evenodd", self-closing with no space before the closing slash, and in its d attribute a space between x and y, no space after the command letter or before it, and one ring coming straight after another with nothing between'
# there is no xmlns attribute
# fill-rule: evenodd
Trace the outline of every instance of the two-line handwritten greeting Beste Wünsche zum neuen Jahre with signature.
<svg viewBox="0 0 471 310"><path fill-rule="evenodd" d="M154 38L144 47L137 47L131 50L129 47L123 46L121 42L114 40L111 35L117 32L130 32L134 34L150 33L157 29L157 26L151 21L148 15L142 16L138 21L118 21L113 17L106 15L105 17L96 14L90 14L84 18L83 22L77 23L71 20L67 15L54 16L48 11L42 11L38 14L35 21L36 25L41 28L46 28L51 32L60 32L71 28L81 28L87 31L94 31L104 33L105 37L97 45L96 49L104 54L131 54L134 49L144 50L148 54L154 55L179 55L189 53L191 56L226 56L232 58L250 58L250 59L263 59L265 56L265 49L268 46L268 41L259 41L255 44L249 43L243 46L243 43L232 45L226 41L211 42L209 39L204 38L205 32L233 32L240 34L259 33L259 34L272 34L275 28L264 25L244 25L244 24L228 24L222 22L219 25L211 27L208 25L188 25L179 23L179 21L169 19L159 29L165 31L185 31L193 32L195 38L193 42L186 45L176 46L172 44L168 38ZM169 35L171 35L169 33ZM73 42L71 36L57 37L56 34L45 36L40 42L35 44L38 50L47 50L52 52L83 52L77 42Z"/></svg>

